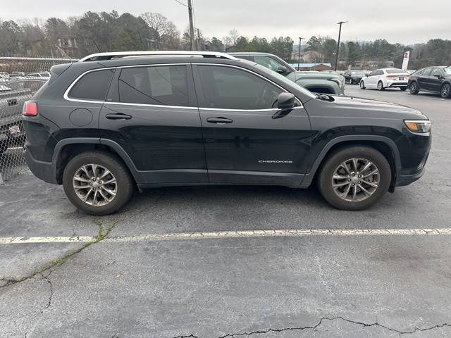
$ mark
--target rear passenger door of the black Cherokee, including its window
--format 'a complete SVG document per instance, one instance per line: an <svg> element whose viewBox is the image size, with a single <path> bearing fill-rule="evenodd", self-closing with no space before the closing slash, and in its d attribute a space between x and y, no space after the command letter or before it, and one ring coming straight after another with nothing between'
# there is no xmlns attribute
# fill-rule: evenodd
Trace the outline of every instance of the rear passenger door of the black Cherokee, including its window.
<svg viewBox="0 0 451 338"><path fill-rule="evenodd" d="M190 67L118 68L101 109L102 139L119 144L149 184L208 182Z"/></svg>

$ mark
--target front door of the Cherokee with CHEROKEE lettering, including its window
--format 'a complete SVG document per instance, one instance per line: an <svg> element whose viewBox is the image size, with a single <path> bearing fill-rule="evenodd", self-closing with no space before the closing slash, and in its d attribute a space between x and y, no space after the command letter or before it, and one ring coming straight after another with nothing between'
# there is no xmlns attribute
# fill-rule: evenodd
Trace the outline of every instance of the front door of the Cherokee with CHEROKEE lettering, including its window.
<svg viewBox="0 0 451 338"><path fill-rule="evenodd" d="M210 182L299 185L311 137L302 105L278 116L285 90L273 82L229 65L193 69Z"/></svg>

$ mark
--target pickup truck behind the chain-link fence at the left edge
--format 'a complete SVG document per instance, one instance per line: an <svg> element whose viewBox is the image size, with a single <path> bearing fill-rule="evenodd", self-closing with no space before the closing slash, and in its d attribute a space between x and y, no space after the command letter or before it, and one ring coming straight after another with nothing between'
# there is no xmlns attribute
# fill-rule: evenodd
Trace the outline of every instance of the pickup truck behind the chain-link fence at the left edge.
<svg viewBox="0 0 451 338"><path fill-rule="evenodd" d="M22 107L30 89L15 90L0 84L0 156L9 146L23 146Z"/></svg>

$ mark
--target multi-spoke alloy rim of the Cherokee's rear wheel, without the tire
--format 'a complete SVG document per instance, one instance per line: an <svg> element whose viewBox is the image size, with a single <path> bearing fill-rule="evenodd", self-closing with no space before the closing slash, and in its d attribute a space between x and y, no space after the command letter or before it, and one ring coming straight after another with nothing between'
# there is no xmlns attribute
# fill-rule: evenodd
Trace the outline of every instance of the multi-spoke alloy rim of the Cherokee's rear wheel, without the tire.
<svg viewBox="0 0 451 338"><path fill-rule="evenodd" d="M106 206L116 197L118 184L110 170L98 164L82 165L73 175L73 189L90 206Z"/></svg>

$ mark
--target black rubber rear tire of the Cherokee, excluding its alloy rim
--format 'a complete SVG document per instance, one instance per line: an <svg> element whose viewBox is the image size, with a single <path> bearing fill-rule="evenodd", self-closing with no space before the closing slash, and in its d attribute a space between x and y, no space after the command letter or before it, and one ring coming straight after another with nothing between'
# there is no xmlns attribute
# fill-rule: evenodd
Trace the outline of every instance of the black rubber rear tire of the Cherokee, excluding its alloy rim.
<svg viewBox="0 0 451 338"><path fill-rule="evenodd" d="M83 166L88 164L101 165L108 169L116 178L116 195L111 202L104 206L93 206L87 204L78 196L73 187L73 177ZM135 189L134 182L128 168L116 156L106 151L89 151L78 154L72 158L64 168L63 187L66 196L80 211L90 215L109 215L122 208L130 199Z"/></svg>

